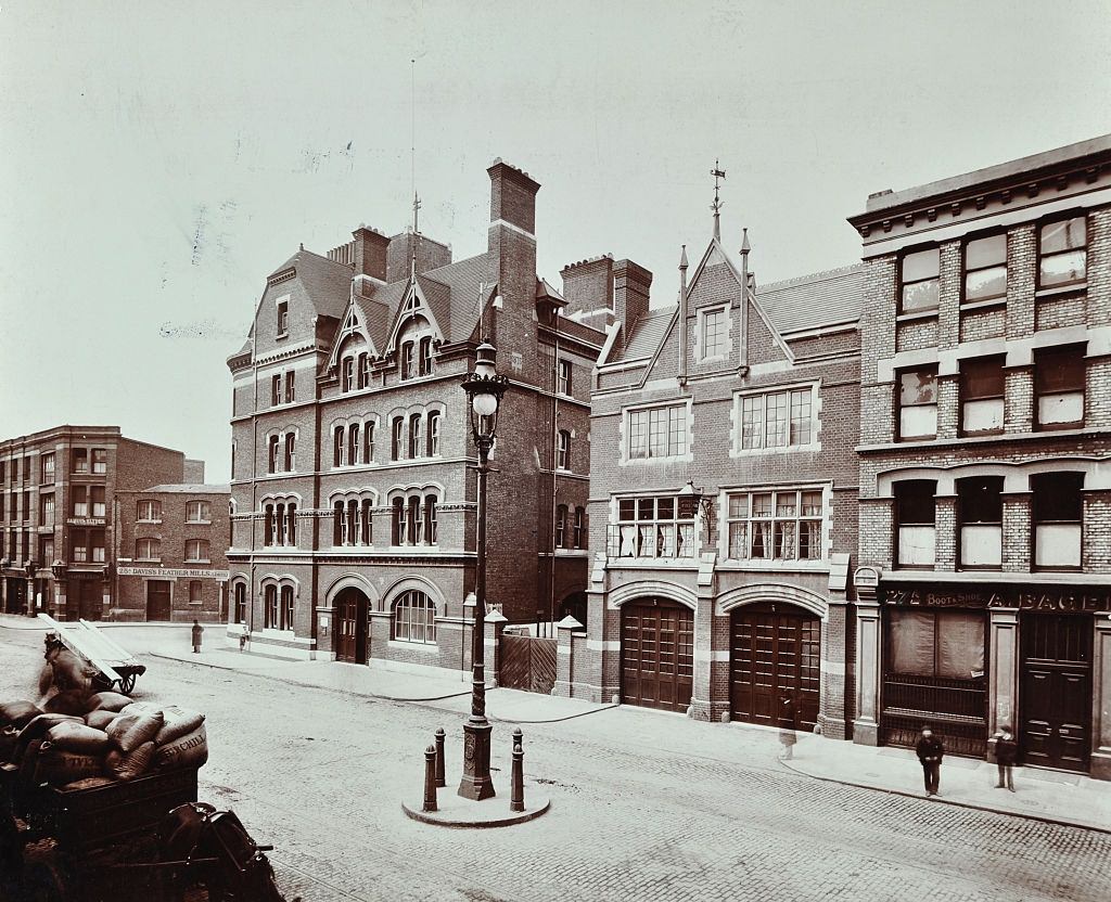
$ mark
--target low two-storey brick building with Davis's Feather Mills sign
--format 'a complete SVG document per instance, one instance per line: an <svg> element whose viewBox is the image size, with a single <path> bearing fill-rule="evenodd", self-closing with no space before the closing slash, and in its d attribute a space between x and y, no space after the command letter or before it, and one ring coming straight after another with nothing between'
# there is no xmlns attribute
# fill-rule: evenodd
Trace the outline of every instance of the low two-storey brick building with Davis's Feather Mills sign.
<svg viewBox="0 0 1111 902"><path fill-rule="evenodd" d="M116 493L116 620L220 622L228 613L227 485Z"/></svg>

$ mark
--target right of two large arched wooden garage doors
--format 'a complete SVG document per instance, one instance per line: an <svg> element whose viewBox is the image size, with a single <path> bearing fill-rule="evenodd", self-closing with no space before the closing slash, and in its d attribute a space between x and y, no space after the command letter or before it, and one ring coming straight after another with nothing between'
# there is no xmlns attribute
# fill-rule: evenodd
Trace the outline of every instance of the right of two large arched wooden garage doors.
<svg viewBox="0 0 1111 902"><path fill-rule="evenodd" d="M733 720L779 724L780 700L790 695L795 726L818 722L821 619L782 602L745 604L730 615L730 712Z"/></svg>

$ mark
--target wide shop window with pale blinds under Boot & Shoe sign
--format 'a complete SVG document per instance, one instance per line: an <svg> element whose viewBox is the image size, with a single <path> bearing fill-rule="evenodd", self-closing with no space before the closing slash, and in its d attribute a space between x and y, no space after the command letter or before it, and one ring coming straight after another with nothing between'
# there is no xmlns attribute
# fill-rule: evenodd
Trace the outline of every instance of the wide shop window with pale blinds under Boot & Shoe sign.
<svg viewBox="0 0 1111 902"><path fill-rule="evenodd" d="M890 673L979 679L983 676L983 652L984 615L979 611L890 609L887 667Z"/></svg>

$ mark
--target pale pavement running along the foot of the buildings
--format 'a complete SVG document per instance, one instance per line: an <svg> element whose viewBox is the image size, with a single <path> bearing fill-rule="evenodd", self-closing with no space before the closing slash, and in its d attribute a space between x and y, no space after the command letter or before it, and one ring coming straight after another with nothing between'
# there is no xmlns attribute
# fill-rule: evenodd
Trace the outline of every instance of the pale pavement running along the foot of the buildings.
<svg viewBox="0 0 1111 902"><path fill-rule="evenodd" d="M107 625L112 638L137 654L174 660L198 668L234 671L282 683L329 690L346 695L433 706L466 714L470 710L469 674L444 671L422 673L386 670L378 667L324 661L289 661L217 645L223 632L216 624L216 638L200 653L192 653L189 625L120 623ZM0 629L40 630L44 625L29 618L0 615ZM141 680L142 678L140 678ZM593 704L580 699L563 699L530 692L488 686L487 716L510 724L560 723L587 715L612 719L618 705ZM621 706L629 711L628 706ZM640 711L638 709L638 711ZM662 712L643 712L658 719L669 733L691 730L692 721ZM699 750L704 756L732 760L738 731L767 733L777 731L744 723L728 726L711 724L700 730ZM618 730L614 723L614 730ZM852 742L799 734L793 758L781 761L782 768L815 781L873 790L895 795L924 795L922 772L910 749L873 748ZM1080 826L1111 833L1111 782L1087 775L1040 768L1015 768L1015 792L997 789L998 771L987 761L945 758L941 769L940 794L931 801L980 811L1030 818L1048 823Z"/></svg>

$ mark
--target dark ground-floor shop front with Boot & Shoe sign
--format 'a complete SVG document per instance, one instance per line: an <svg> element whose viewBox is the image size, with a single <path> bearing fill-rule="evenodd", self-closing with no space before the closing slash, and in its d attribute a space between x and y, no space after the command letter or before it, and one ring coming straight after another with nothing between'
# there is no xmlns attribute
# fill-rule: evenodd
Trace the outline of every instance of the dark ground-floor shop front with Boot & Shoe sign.
<svg viewBox="0 0 1111 902"><path fill-rule="evenodd" d="M990 759L1008 725L1022 763L1111 779L1111 589L880 580L858 617L858 741L909 746L930 723Z"/></svg>

